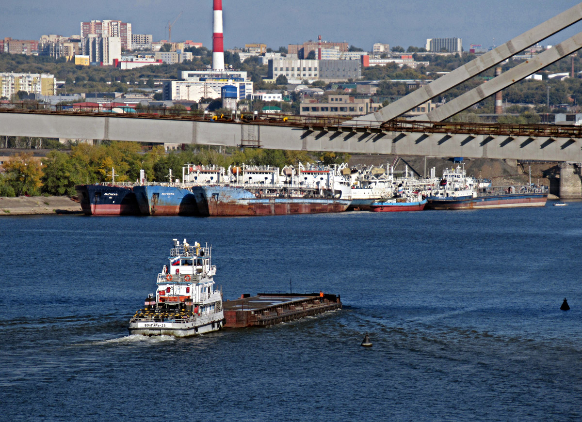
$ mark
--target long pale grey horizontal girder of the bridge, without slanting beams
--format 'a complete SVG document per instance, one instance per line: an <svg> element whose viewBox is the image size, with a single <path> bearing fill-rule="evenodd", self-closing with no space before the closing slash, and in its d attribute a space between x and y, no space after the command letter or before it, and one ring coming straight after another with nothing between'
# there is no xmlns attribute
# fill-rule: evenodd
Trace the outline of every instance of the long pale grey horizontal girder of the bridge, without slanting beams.
<svg viewBox="0 0 582 422"><path fill-rule="evenodd" d="M0 113L0 135L9 136L240 146L241 127L237 123L199 120ZM261 148L582 162L581 138L266 124L260 125L259 132L255 141Z"/></svg>

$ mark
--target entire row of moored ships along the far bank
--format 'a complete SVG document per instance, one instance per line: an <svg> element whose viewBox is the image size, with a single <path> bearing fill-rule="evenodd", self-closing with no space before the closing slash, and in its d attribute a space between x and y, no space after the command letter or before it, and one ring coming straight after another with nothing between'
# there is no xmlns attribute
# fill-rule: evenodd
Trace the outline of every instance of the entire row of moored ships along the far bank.
<svg viewBox="0 0 582 422"><path fill-rule="evenodd" d="M112 171L114 174L114 171ZM371 210L477 209L544 206L546 187L492 187L467 176L461 166L437 177L418 178L408 168L339 166L196 166L182 179L147 183L103 183L76 187L87 215L255 216Z"/></svg>

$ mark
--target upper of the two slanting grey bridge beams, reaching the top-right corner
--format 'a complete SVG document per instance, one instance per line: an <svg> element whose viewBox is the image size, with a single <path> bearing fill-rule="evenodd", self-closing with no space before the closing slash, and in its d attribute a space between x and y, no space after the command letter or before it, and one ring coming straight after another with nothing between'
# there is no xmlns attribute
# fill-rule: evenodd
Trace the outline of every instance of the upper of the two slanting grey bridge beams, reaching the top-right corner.
<svg viewBox="0 0 582 422"><path fill-rule="evenodd" d="M385 121L395 119L580 20L582 20L582 3L578 3L576 6L546 20L521 35L517 35L517 37L505 44L439 77L430 84L418 88L418 90L403 96L398 101L385 106L377 112L356 117L353 120L346 121L344 124L345 126L350 126L350 122L356 125L365 122L371 126L379 126Z"/></svg>

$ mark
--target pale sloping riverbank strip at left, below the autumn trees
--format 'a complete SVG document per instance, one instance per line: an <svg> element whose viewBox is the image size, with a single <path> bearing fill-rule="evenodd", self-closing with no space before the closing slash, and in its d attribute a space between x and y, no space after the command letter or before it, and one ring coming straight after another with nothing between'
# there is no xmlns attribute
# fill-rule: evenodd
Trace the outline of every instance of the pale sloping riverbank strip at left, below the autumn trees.
<svg viewBox="0 0 582 422"><path fill-rule="evenodd" d="M82 213L79 202L69 196L0 196L0 216L23 216L34 214Z"/></svg>

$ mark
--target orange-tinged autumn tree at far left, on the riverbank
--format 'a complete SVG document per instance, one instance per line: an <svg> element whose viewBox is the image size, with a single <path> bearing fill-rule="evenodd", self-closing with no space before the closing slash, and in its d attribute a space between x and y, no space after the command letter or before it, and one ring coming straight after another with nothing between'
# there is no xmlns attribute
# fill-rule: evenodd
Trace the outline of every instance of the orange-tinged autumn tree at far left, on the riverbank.
<svg viewBox="0 0 582 422"><path fill-rule="evenodd" d="M42 171L32 153L17 153L4 163L6 181L14 189L16 196L38 195Z"/></svg>

